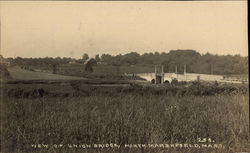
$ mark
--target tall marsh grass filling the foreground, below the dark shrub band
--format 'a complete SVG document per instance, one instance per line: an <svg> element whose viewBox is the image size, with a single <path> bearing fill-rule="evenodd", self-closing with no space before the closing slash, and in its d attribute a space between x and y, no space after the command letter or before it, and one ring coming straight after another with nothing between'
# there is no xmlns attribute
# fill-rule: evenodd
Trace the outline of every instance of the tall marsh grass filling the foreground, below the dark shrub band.
<svg viewBox="0 0 250 153"><path fill-rule="evenodd" d="M85 97L5 98L3 152L239 152L248 144L248 96L177 97L117 92ZM197 143L223 150L34 149L31 144Z"/></svg>

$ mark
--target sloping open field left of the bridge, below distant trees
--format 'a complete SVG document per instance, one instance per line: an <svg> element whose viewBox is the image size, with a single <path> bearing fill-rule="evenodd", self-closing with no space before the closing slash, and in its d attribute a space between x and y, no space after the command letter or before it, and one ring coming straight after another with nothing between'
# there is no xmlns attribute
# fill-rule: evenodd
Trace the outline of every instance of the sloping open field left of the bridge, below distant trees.
<svg viewBox="0 0 250 153"><path fill-rule="evenodd" d="M126 69L127 67L125 67ZM46 81L46 80L55 80L55 81L72 81L72 80L82 80L92 82L120 82L125 80L143 80L137 76L126 76L122 75L120 72L117 74L117 68L112 66L97 66L94 67L95 71L93 73L87 73L84 71L84 66L82 64L71 64L64 65L56 74L48 72L38 72L28 69L23 69L18 66L8 67L7 68L12 79L5 79L7 81L16 81L16 80L26 80L26 81ZM129 68L128 68L129 69ZM105 73L104 73L105 72ZM85 82L86 83L86 82Z"/></svg>

